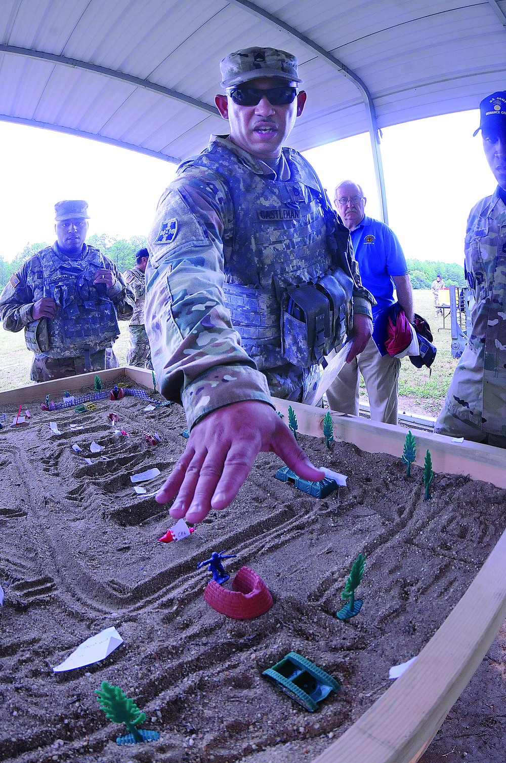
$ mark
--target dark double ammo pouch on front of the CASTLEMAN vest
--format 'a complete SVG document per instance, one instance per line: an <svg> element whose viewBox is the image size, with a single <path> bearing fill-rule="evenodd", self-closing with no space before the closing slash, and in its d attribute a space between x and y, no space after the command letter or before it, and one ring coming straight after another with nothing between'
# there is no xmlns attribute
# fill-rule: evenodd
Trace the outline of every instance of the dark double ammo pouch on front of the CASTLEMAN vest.
<svg viewBox="0 0 506 763"><path fill-rule="evenodd" d="M293 365L308 368L344 340L353 280L337 270L315 284L290 288L281 300L281 347Z"/></svg>

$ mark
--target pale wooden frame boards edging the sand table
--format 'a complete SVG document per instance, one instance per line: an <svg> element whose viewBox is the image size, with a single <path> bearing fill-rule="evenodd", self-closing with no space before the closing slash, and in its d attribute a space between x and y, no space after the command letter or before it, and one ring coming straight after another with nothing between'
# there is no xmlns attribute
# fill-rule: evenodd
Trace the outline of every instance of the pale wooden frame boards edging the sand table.
<svg viewBox="0 0 506 763"><path fill-rule="evenodd" d="M100 372L102 381L126 375L152 389L150 371L123 366ZM45 381L0 393L0 404L43 400L63 390L93 385L95 373ZM287 417L289 403L274 398ZM323 437L322 408L291 403L298 431ZM406 430L388 424L331 412L335 441L361 450L401 457ZM506 488L506 450L479 443L418 432L416 462L423 465L431 451L434 472L469 475ZM447 713L479 667L506 617L506 532L472 581L466 594L421 650L415 662L397 678L347 732L313 763L415 763L434 739ZM476 603L479 602L479 610Z"/></svg>

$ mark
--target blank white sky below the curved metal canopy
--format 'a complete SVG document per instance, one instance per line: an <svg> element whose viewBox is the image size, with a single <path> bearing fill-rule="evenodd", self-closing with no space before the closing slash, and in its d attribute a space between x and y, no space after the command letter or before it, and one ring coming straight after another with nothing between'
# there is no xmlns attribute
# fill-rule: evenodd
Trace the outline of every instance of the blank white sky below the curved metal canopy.
<svg viewBox="0 0 506 763"><path fill-rule="evenodd" d="M465 111L383 130L389 225L406 257L463 263L467 214L495 188L482 139L472 137L478 124L479 111ZM36 127L0 122L0 141L2 255L8 261L28 241L53 242L54 204L65 198L88 201L90 234L146 234L175 172L160 159ZM329 194L337 182L353 179L367 195L366 214L379 217L367 134L306 156Z"/></svg>

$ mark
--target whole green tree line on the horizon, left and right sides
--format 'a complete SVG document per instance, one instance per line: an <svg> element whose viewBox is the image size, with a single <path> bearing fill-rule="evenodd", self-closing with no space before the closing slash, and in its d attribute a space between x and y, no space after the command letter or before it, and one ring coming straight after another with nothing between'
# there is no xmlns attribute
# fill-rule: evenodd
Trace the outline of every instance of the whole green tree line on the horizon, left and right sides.
<svg viewBox="0 0 506 763"><path fill-rule="evenodd" d="M118 266L121 272L133 268L135 265L135 253L146 246L145 236L133 236L130 239L120 239L110 236L108 233L94 233L88 238L91 246L98 246L102 253ZM0 290L4 288L12 273L16 272L25 259L48 246L46 243L27 243L22 252L14 257L12 262L4 262L0 255ZM431 288L431 283L437 273L441 274L447 286L465 286L463 266L456 262L430 262L420 259L406 260L413 288Z"/></svg>

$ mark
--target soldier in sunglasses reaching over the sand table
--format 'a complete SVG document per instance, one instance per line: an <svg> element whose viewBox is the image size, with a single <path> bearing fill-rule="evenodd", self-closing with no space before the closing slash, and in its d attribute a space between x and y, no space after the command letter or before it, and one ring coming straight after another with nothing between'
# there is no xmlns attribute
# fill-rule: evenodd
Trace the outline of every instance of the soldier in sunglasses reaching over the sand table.
<svg viewBox="0 0 506 763"><path fill-rule="evenodd" d="M191 521L232 501L260 450L322 479L271 394L300 401L345 334L349 359L360 353L375 304L314 170L283 149L306 101L295 56L248 48L220 69L226 95L215 102L230 134L179 167L146 267L152 364L191 428L157 501L178 493L171 515Z"/></svg>

